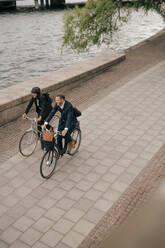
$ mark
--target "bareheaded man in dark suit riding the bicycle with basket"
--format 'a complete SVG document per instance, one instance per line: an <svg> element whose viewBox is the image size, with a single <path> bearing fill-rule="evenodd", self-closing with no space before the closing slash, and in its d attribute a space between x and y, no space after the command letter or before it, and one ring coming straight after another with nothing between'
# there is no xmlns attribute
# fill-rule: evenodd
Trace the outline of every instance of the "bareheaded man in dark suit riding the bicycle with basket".
<svg viewBox="0 0 165 248"><path fill-rule="evenodd" d="M58 131L61 132L61 135L57 137L57 144L59 153L62 156L68 147L68 151L70 152L74 147L74 140L71 138L71 133L76 127L77 118L74 114L73 106L70 102L65 100L64 95L56 96L56 105L46 118L46 121L42 128L46 128L46 125L49 124L50 120L53 118L55 113L59 111L61 113L61 117L59 119ZM62 145L62 139L65 139L65 145Z"/></svg>

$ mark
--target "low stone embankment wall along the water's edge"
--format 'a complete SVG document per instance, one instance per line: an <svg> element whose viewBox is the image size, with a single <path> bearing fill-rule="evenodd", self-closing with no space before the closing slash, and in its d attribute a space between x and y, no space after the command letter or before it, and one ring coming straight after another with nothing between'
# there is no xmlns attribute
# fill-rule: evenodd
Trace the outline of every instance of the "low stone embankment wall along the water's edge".
<svg viewBox="0 0 165 248"><path fill-rule="evenodd" d="M30 99L32 87L39 86L43 91L48 91L53 95L57 89L66 86L74 87L75 84L95 77L111 66L122 62L125 58L123 53L101 53L94 58L0 90L0 126L21 116Z"/></svg>

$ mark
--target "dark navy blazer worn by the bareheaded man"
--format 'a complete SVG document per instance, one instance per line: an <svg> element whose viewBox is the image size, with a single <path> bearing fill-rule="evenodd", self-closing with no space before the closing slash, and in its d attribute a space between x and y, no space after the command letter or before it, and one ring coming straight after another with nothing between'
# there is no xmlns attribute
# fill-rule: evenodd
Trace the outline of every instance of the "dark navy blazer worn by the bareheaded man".
<svg viewBox="0 0 165 248"><path fill-rule="evenodd" d="M74 115L73 106L68 101L65 101L63 109L61 109L56 104L54 108L52 109L51 113L49 114L49 116L47 117L46 122L49 123L57 111L61 112L61 117L60 117L59 125L58 125L59 131L62 131L65 128L72 129L76 126L77 119Z"/></svg>

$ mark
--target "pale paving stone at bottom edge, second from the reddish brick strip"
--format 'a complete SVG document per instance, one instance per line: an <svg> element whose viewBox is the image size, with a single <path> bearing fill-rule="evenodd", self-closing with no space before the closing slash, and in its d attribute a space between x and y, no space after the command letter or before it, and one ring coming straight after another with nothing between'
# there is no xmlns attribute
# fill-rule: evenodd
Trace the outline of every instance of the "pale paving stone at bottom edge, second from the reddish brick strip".
<svg viewBox="0 0 165 248"><path fill-rule="evenodd" d="M63 236L53 230L49 230L42 238L41 241L50 246L55 247L58 242L63 238Z"/></svg>

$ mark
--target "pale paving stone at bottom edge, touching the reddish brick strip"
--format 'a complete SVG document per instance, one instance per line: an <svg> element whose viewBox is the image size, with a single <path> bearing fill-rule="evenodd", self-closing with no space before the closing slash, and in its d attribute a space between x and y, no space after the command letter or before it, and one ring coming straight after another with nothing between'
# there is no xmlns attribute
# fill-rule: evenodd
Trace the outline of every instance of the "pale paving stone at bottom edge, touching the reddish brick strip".
<svg viewBox="0 0 165 248"><path fill-rule="evenodd" d="M84 236L75 232L70 231L62 240L63 243L68 245L71 248L76 248L83 241Z"/></svg>

